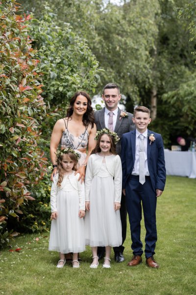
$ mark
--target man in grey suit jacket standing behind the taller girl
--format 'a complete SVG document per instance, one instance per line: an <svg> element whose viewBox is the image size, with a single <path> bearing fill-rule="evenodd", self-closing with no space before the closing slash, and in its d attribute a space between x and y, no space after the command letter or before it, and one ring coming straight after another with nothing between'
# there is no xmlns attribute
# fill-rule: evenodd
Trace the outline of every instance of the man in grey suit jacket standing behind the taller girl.
<svg viewBox="0 0 196 295"><path fill-rule="evenodd" d="M118 103L121 100L120 89L117 84L109 83L103 88L102 99L105 102L105 107L102 110L95 112L95 123L97 125L97 130L103 128L108 128L114 131L118 136L123 136L124 133L132 131L135 129L133 123L133 115L130 113L125 113L120 110ZM120 155L121 153L121 140L116 146L116 151ZM122 223L122 238L123 242L126 238L126 204L125 197L122 195L121 199L121 223ZM114 247L114 255L116 262L123 262L123 242L119 247ZM104 257L105 248L98 247L98 258Z"/></svg>

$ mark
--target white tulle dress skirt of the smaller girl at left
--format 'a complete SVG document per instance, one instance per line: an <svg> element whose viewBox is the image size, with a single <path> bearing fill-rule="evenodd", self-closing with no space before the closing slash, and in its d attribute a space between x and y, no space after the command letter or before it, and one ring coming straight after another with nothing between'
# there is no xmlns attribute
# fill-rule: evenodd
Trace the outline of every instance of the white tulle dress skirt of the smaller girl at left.
<svg viewBox="0 0 196 295"><path fill-rule="evenodd" d="M78 192L59 191L57 211L58 218L51 221L49 251L65 254L85 251L84 219L78 216Z"/></svg>

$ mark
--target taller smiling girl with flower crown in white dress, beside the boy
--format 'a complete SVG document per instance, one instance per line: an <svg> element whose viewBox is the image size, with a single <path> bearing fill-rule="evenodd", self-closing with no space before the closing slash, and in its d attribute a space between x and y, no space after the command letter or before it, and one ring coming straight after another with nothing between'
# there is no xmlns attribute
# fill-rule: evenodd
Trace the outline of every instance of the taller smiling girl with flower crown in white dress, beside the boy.
<svg viewBox="0 0 196 295"><path fill-rule="evenodd" d="M102 267L110 268L111 247L122 244L120 217L122 194L122 165L116 154L119 137L102 129L96 134L97 146L88 160L85 176L86 216L85 242L92 247L93 263L98 267L98 246L105 246Z"/></svg>

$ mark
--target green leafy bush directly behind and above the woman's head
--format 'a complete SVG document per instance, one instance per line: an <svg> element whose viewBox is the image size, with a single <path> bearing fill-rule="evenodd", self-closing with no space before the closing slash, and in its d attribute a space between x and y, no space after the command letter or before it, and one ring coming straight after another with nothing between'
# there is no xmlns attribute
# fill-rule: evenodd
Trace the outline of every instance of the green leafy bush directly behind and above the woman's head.
<svg viewBox="0 0 196 295"><path fill-rule="evenodd" d="M75 91L95 92L98 61L70 24L64 24L63 29L58 27L52 10L45 6L40 20L32 21L31 34L38 50L47 102L65 107Z"/></svg>

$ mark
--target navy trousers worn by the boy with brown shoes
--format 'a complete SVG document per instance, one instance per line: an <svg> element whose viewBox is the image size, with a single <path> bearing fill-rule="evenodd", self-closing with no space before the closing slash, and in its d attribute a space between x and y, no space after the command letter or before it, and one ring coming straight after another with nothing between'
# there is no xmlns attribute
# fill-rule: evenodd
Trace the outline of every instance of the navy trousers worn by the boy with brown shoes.
<svg viewBox="0 0 196 295"><path fill-rule="evenodd" d="M154 189L152 188L150 177L146 177L146 182L141 184L139 176L131 175L126 182L126 207L129 216L131 239L134 255L142 255L142 242L140 239L141 234L141 220L142 220L142 207L144 212L144 221L146 228L146 258L155 254L155 245L157 241L156 231L156 202L157 197Z"/></svg>

